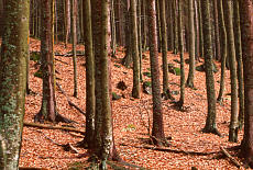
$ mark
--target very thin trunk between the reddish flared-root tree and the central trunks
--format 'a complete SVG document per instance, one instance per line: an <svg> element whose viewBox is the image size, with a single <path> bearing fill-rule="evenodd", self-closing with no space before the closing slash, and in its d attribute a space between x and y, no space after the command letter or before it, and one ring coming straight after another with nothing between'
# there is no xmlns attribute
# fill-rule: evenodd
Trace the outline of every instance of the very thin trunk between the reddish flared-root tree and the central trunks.
<svg viewBox="0 0 253 170"><path fill-rule="evenodd" d="M73 67L74 67L74 97L77 98L77 64L76 64L76 45L77 45L77 34L76 34L76 20L77 19L77 1L72 0L72 43L73 43Z"/></svg>

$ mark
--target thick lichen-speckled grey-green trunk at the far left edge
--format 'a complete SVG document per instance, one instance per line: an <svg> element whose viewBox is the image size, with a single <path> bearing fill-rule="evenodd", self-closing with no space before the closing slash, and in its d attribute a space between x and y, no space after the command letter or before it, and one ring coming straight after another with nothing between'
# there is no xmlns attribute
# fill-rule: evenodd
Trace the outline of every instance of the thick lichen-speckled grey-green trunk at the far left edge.
<svg viewBox="0 0 253 170"><path fill-rule="evenodd" d="M0 55L0 169L18 169L29 56L29 0L4 2Z"/></svg>

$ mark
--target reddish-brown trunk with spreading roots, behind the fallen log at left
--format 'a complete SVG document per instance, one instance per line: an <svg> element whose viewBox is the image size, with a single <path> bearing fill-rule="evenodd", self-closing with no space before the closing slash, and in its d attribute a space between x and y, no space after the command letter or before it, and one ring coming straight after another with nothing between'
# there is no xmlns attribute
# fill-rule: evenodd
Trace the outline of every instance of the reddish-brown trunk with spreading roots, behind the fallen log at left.
<svg viewBox="0 0 253 170"><path fill-rule="evenodd" d="M54 0L42 0L41 13L41 70L43 78L43 97L40 112L35 115L35 122L67 122L56 109L55 75L53 54L53 3Z"/></svg>

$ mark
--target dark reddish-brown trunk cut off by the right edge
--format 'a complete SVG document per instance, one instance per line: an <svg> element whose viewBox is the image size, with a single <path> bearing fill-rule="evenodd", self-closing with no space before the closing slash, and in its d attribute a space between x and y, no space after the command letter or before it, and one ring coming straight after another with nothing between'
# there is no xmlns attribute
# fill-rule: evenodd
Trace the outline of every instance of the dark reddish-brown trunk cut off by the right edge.
<svg viewBox="0 0 253 170"><path fill-rule="evenodd" d="M245 117L244 135L242 140L242 156L253 168L253 2L240 0L240 16L242 30L242 56L244 70Z"/></svg>

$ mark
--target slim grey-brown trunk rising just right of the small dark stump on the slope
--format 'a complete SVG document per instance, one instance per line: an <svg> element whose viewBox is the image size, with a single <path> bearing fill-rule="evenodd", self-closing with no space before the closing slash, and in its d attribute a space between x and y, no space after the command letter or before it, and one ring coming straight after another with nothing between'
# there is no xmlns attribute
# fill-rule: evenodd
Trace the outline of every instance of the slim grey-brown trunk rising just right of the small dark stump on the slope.
<svg viewBox="0 0 253 170"><path fill-rule="evenodd" d="M132 57L133 57L133 89L132 97L139 99L141 87L140 87L140 56L139 56L139 43L138 43L138 18L136 18L136 1L130 0L130 12L131 12L131 35L132 35Z"/></svg>

